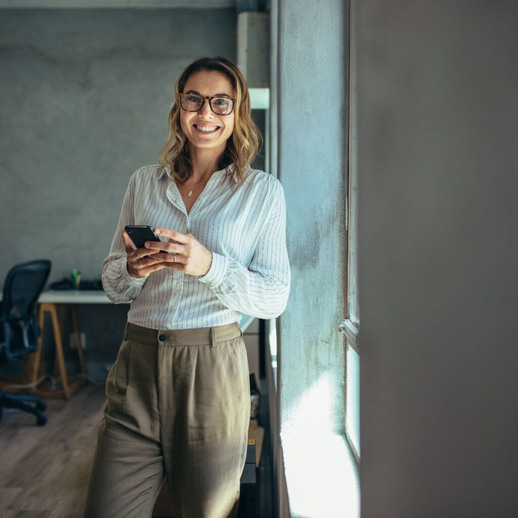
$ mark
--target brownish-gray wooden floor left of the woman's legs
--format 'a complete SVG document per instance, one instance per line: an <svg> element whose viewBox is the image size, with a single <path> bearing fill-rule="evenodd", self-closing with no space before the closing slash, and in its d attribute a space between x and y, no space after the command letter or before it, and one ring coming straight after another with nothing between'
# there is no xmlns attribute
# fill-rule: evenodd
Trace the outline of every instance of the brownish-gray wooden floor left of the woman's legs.
<svg viewBox="0 0 518 518"><path fill-rule="evenodd" d="M85 384L68 401L47 399L48 422L4 408L0 420L0 518L81 518L104 386Z"/></svg>

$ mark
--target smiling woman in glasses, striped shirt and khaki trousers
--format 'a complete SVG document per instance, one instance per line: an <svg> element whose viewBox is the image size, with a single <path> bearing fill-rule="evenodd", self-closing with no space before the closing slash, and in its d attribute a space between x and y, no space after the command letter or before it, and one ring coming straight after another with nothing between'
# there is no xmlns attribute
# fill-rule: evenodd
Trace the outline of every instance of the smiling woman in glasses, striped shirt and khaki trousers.
<svg viewBox="0 0 518 518"><path fill-rule="evenodd" d="M107 296L132 304L84 518L149 516L165 477L175 516L237 515L250 422L238 324L280 315L291 285L282 184L250 165L260 141L234 63L185 68L160 163L132 175L103 263ZM137 248L125 225L164 240Z"/></svg>

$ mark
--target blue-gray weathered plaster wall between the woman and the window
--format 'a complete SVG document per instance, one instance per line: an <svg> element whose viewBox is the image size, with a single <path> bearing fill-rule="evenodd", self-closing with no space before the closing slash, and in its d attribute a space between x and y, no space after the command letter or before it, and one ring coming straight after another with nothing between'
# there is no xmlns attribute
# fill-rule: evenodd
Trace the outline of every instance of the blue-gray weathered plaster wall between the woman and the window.
<svg viewBox="0 0 518 518"><path fill-rule="evenodd" d="M277 170L292 268L280 317L281 431L342 431L344 419L346 20L341 0L279 2Z"/></svg>

